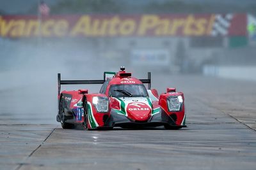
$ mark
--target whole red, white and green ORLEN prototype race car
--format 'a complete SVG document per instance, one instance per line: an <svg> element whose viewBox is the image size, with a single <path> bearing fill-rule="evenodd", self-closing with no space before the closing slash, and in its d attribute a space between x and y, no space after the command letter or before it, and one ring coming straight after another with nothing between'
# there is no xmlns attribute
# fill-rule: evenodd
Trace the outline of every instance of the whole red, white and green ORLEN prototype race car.
<svg viewBox="0 0 256 170"><path fill-rule="evenodd" d="M110 76L109 76L110 75ZM148 84L148 90L143 83ZM62 91L61 85L102 84L99 93L88 89ZM61 80L58 73L58 115L63 129L83 125L85 129L186 127L184 94L167 88L160 96L147 79L137 79L121 67L118 73L104 72L104 80Z"/></svg>

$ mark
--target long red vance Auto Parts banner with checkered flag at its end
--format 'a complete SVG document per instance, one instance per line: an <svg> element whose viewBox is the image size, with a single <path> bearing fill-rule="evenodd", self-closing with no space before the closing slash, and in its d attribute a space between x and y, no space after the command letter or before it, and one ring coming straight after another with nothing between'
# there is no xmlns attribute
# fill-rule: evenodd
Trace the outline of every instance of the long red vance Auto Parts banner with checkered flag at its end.
<svg viewBox="0 0 256 170"><path fill-rule="evenodd" d="M246 34L246 15L0 16L0 37L232 36ZM239 29L237 29L239 27Z"/></svg>

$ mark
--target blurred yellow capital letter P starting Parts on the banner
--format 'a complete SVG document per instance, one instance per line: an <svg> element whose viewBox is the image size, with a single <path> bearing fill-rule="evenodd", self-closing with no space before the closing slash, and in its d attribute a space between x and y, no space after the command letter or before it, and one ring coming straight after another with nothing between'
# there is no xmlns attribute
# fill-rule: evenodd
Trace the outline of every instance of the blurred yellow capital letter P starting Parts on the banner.
<svg viewBox="0 0 256 170"><path fill-rule="evenodd" d="M138 29L138 35L143 36L148 29L156 27L158 21L157 15L143 15Z"/></svg>

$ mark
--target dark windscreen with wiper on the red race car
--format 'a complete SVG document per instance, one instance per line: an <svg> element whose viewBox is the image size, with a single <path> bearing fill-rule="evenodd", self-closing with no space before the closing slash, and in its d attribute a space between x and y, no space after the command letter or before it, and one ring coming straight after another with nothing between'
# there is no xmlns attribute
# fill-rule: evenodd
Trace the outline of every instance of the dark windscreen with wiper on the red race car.
<svg viewBox="0 0 256 170"><path fill-rule="evenodd" d="M108 94L111 97L148 97L143 84L111 85Z"/></svg>

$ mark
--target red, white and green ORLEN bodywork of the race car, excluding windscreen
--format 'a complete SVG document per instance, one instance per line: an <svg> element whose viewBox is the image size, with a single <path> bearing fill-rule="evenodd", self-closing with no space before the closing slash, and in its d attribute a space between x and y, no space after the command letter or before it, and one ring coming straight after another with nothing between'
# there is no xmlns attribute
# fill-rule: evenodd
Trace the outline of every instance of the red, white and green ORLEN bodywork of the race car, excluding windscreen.
<svg viewBox="0 0 256 170"><path fill-rule="evenodd" d="M122 127L122 125L124 124L126 125L129 123L140 125L140 122L141 125L146 125L147 123L158 125L157 121L159 125L160 123L170 124L171 121L172 125L174 126L186 127L184 94L182 92L176 92L175 88L168 88L166 90L167 92L161 94L160 96L158 95L156 89L152 89L147 90L148 97L116 98L109 95L109 89L111 88L111 85L143 85L143 83L137 78L132 77L131 73L126 73L123 70L116 73L115 76L108 81L108 85L106 86L105 92L103 93L88 94L87 89L79 89L74 91L64 90L58 96L58 99L62 99L65 101L65 109L67 110L67 114L69 113L71 115L70 117L73 116L73 123L86 124L88 129L112 127L118 125L118 121L112 120L115 120L115 118L111 118L113 115L121 115L120 117L125 117L127 118L127 121L131 121L122 122L122 124L120 124L120 127ZM167 101L168 97L170 96L182 97L182 104L180 105L179 111L169 111ZM96 97L96 99L108 99L108 111L97 111L95 101L93 101L93 97Z"/></svg>

